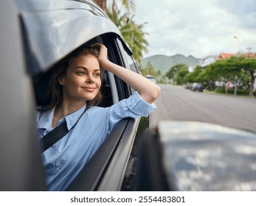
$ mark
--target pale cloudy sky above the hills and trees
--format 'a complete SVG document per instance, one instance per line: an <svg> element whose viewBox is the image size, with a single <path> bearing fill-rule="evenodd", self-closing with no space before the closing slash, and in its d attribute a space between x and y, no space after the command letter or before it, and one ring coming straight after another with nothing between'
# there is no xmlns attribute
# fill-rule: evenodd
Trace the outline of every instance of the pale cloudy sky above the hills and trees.
<svg viewBox="0 0 256 206"><path fill-rule="evenodd" d="M256 0L134 0L149 57L256 52Z"/></svg>

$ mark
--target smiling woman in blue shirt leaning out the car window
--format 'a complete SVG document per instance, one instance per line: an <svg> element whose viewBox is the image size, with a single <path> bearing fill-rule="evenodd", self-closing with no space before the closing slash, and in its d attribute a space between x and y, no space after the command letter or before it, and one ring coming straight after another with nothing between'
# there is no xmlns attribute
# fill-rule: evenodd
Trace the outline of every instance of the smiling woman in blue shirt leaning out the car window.
<svg viewBox="0 0 256 206"><path fill-rule="evenodd" d="M77 49L54 68L50 80L52 102L38 112L39 136L64 121L71 130L42 154L49 191L67 188L120 119L148 116L156 108L153 102L159 96L159 86L111 63L107 56L107 48L97 43ZM97 107L101 68L120 77L136 92L111 107Z"/></svg>

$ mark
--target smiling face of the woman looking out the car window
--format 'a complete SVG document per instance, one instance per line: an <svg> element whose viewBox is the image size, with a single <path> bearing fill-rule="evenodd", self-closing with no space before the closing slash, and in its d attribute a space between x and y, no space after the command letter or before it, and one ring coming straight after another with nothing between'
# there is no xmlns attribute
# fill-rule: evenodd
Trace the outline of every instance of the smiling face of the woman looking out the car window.
<svg viewBox="0 0 256 206"><path fill-rule="evenodd" d="M74 58L64 77L58 79L63 86L63 99L84 102L94 99L100 90L100 63L97 57L84 54Z"/></svg>

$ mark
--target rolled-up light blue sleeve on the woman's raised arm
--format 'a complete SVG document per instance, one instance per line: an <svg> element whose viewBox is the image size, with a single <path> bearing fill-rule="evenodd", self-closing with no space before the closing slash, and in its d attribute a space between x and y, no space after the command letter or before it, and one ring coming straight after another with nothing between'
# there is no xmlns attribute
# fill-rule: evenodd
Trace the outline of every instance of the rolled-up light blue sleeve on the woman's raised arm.
<svg viewBox="0 0 256 206"><path fill-rule="evenodd" d="M117 121L122 118L139 118L148 116L153 110L156 109L156 104L149 104L145 102L137 91L128 99L114 104L110 108L110 127L113 129Z"/></svg>

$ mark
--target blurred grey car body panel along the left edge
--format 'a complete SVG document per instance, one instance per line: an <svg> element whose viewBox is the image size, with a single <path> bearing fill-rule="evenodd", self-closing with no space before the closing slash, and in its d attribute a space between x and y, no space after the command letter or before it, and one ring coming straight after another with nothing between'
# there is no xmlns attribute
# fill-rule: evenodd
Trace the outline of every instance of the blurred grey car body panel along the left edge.
<svg viewBox="0 0 256 206"><path fill-rule="evenodd" d="M0 191L45 191L32 79L18 16L14 1L1 1Z"/></svg>

